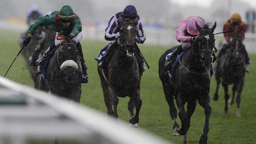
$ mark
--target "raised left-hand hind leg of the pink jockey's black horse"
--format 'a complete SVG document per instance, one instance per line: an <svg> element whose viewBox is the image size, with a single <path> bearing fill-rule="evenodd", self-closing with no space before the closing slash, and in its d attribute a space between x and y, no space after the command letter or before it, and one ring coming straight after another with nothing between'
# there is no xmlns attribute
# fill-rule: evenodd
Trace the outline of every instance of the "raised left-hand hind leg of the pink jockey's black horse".
<svg viewBox="0 0 256 144"><path fill-rule="evenodd" d="M174 131L176 131L176 130L178 130L179 126L176 121L177 109L174 105L174 98L171 95L171 87L172 86L170 85L169 81L168 82L165 82L164 80L161 80L161 81L162 81L163 89L165 92L165 99L169 105L169 113L170 113L171 119L174 121L173 129L174 129Z"/></svg>

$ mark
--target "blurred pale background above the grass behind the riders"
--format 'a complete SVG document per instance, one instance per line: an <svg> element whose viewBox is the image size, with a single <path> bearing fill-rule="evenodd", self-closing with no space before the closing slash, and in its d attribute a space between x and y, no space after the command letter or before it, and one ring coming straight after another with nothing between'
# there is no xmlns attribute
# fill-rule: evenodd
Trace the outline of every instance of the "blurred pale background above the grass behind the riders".
<svg viewBox="0 0 256 144"><path fill-rule="evenodd" d="M217 21L215 32L221 32L233 13L239 13L247 23L247 32L254 32L256 1L254 0L1 0L0 27L27 30L28 11L37 6L43 15L71 5L80 16L85 39L104 40L110 18L127 5L135 5L143 21L146 44L170 46L176 43L174 34L181 20L188 16L201 16L208 22ZM223 43L223 34L217 40ZM247 34L245 45L249 51L254 34ZM219 42L218 41L218 42Z"/></svg>

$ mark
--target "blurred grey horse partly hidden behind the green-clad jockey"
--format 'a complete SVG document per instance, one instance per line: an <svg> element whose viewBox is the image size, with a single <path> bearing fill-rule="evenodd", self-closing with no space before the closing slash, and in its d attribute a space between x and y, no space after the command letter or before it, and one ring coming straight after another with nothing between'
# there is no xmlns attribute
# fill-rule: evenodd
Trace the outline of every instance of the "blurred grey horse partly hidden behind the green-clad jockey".
<svg viewBox="0 0 256 144"><path fill-rule="evenodd" d="M27 35L28 32L25 33ZM23 39L23 36L21 36ZM34 88L39 89L39 81L37 75L37 59L47 50L54 42L55 32L51 27L39 27L31 39L31 42L25 46L21 54L25 58L26 66L30 72L30 77L34 81Z"/></svg>

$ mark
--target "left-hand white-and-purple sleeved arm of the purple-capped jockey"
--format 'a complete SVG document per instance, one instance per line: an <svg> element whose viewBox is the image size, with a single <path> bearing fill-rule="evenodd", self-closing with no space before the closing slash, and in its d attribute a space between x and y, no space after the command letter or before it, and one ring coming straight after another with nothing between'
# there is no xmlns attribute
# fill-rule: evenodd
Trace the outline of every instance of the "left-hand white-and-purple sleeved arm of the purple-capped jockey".
<svg viewBox="0 0 256 144"><path fill-rule="evenodd" d="M107 26L107 28L105 30L105 40L107 40L107 41L115 41L115 40L117 40L117 38L116 38L117 32L115 32L117 27L118 27L117 17L114 15L110 19L110 21L108 23L108 26Z"/></svg>

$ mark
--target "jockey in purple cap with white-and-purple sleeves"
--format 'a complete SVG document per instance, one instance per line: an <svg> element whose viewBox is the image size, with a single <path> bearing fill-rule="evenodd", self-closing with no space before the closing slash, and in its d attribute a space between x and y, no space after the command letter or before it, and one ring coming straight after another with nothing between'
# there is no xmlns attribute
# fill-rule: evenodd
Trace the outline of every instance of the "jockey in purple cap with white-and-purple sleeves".
<svg viewBox="0 0 256 144"><path fill-rule="evenodd" d="M122 12L119 12L110 18L108 27L105 30L105 40L116 41L120 37L119 31L121 28L121 23L119 21L119 17L122 17L123 20L125 20L125 21L126 20L133 21L136 18L138 19L138 22L135 25L137 28L136 42L141 43L141 44L144 43L144 41L146 40L146 36L142 29L142 21L140 20L139 16L137 15L137 10L133 5L128 5ZM136 52L135 55L138 60L139 71L143 72L143 71L145 71L146 67L144 66L142 56L138 51L139 48L138 48L137 44L135 44L135 46L137 47L137 50L135 50L135 52ZM103 57L101 59L100 64L98 64L99 67L101 67L101 68L107 67L107 63L111 59L111 57L114 53L114 47L115 46L114 46L114 42L113 42L113 44L111 44L110 47L108 48L105 57Z"/></svg>

